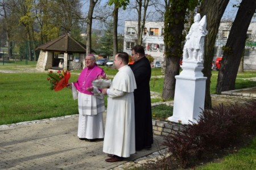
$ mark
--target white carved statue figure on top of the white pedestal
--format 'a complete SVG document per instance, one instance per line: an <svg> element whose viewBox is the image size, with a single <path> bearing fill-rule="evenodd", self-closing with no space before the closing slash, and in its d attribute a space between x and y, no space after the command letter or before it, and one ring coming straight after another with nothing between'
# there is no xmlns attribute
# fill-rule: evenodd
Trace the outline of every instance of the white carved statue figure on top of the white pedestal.
<svg viewBox="0 0 256 170"><path fill-rule="evenodd" d="M194 23L186 36L186 42L183 49L183 59L203 62L204 59L204 37L208 31L206 29L206 16L200 20L200 14L194 17Z"/></svg>

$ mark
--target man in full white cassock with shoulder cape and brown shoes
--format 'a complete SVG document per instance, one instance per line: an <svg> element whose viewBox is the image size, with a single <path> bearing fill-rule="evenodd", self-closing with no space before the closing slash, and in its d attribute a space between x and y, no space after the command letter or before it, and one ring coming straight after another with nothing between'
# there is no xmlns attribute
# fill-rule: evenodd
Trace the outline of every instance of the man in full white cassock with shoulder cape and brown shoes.
<svg viewBox="0 0 256 170"><path fill-rule="evenodd" d="M103 88L108 95L108 108L103 151L110 157L106 162L118 162L135 153L134 96L136 88L133 71L128 66L129 55L118 53L114 65L118 73L110 88Z"/></svg>

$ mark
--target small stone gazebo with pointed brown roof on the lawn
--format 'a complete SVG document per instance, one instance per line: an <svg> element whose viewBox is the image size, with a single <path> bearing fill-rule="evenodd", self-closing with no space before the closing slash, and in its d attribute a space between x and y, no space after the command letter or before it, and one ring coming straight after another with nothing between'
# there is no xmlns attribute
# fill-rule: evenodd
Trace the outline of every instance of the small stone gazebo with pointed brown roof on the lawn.
<svg viewBox="0 0 256 170"><path fill-rule="evenodd" d="M41 50L37 70L79 70L85 66L86 45L68 34L40 45L37 49ZM79 54L79 58L73 54Z"/></svg>

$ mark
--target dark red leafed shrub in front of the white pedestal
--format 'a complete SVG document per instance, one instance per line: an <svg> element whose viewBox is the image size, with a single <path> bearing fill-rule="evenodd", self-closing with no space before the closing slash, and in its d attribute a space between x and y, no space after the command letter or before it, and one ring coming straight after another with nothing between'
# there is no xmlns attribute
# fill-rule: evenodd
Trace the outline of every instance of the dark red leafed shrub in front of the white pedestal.
<svg viewBox="0 0 256 170"><path fill-rule="evenodd" d="M236 143L243 134L256 129L256 101L202 111L196 123L184 126L176 135L170 134L163 145L185 168L200 160L202 154Z"/></svg>

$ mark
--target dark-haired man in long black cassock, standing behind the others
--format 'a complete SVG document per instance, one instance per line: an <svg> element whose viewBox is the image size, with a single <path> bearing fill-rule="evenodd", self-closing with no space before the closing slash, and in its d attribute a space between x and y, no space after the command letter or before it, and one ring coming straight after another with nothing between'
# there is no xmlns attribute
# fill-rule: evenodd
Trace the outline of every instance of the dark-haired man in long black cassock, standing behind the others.
<svg viewBox="0 0 256 170"><path fill-rule="evenodd" d="M134 91L135 103L135 146L136 150L150 148L153 143L152 113L150 98L151 65L145 57L144 47L135 45L131 49L133 70L137 89Z"/></svg>

